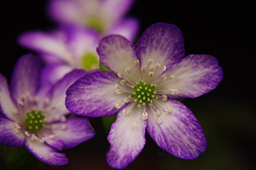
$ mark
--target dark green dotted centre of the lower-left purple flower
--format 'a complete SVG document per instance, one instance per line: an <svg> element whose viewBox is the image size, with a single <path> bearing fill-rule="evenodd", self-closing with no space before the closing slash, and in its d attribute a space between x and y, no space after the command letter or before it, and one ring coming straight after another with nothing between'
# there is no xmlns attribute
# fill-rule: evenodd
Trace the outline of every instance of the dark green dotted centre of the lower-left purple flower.
<svg viewBox="0 0 256 170"><path fill-rule="evenodd" d="M42 114L42 111L31 111L28 112L26 115L26 128L29 131L38 131L39 129L42 129L46 122L44 122L45 116Z"/></svg>

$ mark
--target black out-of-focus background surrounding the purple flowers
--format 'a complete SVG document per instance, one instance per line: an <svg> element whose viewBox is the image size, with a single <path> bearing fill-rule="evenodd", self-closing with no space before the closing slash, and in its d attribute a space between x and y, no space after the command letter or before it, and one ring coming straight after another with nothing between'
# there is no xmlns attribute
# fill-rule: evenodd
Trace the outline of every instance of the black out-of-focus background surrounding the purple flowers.
<svg viewBox="0 0 256 170"><path fill-rule="evenodd" d="M46 15L47 1L4 1L1 6L0 72L10 80L20 56L31 51L17 45L24 31L55 27ZM205 153L196 160L182 160L161 150L147 135L145 148L127 169L253 169L255 127L255 9L246 1L145 1L127 14L141 22L141 33L156 22L177 25L184 36L186 55L209 54L223 68L223 81L202 97L186 99L204 129ZM38 169L111 169L106 164L109 144L100 118L90 119L96 136L65 151L70 164ZM3 147L0 145L0 152ZM0 155L0 166L3 154ZM2 166L1 166L2 167Z"/></svg>

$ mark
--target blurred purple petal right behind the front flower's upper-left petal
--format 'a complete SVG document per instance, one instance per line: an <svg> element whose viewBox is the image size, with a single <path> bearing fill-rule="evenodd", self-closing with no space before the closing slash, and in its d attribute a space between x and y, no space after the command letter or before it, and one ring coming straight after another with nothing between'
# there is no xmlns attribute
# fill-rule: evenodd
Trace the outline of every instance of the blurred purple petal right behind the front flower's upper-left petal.
<svg viewBox="0 0 256 170"><path fill-rule="evenodd" d="M104 36L120 35L132 42L139 31L139 27L140 24L136 18L126 18L113 25Z"/></svg>

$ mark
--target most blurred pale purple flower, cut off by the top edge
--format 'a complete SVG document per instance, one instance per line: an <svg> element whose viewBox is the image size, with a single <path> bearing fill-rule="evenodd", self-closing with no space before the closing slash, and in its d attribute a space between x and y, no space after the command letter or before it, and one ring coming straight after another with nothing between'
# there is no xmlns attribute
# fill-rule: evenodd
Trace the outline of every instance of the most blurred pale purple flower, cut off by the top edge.
<svg viewBox="0 0 256 170"><path fill-rule="evenodd" d="M49 15L61 24L91 27L103 36L120 34L132 41L138 32L136 18L124 18L134 0L52 0Z"/></svg>

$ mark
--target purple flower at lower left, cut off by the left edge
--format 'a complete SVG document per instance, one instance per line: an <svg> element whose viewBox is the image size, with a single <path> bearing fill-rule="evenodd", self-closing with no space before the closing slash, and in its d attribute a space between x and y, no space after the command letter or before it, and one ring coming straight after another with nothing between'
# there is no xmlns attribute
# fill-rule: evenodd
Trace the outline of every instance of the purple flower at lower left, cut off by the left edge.
<svg viewBox="0 0 256 170"><path fill-rule="evenodd" d="M88 119L65 117L70 113L65 108L65 91L84 74L74 70L53 87L40 83L40 61L32 55L17 61L10 87L0 74L0 143L25 146L37 159L52 166L68 164L65 153L58 151L95 135Z"/></svg>

